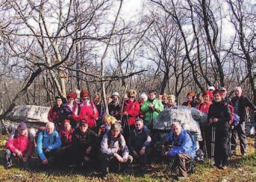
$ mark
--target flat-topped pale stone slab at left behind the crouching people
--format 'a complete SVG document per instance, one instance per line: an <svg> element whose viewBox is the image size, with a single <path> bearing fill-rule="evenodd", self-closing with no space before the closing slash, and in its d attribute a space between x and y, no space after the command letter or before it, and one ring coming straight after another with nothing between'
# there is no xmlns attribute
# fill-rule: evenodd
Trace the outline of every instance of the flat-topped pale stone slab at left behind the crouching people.
<svg viewBox="0 0 256 182"><path fill-rule="evenodd" d="M50 107L36 106L36 105L19 105L7 114L7 119L11 122L49 122L47 117Z"/></svg>

